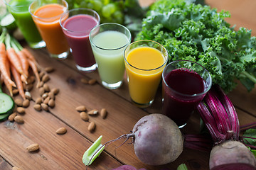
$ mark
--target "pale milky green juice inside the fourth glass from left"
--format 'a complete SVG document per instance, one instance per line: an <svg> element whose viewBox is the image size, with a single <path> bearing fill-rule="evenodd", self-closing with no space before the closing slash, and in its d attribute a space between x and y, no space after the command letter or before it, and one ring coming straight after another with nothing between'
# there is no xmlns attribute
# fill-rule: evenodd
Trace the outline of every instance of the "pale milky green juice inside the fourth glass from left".
<svg viewBox="0 0 256 170"><path fill-rule="evenodd" d="M129 38L124 33L107 30L92 38L92 51L102 81L114 84L124 77L124 49ZM96 46L95 46L96 45Z"/></svg>

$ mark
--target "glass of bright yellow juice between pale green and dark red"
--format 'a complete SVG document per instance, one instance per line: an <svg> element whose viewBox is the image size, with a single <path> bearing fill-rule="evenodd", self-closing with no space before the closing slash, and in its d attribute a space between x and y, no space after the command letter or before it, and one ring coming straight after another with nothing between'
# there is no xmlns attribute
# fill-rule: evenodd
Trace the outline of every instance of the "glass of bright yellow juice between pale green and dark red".
<svg viewBox="0 0 256 170"><path fill-rule="evenodd" d="M124 50L124 61L132 101L141 108L150 106L168 61L166 48L151 40L135 41Z"/></svg>

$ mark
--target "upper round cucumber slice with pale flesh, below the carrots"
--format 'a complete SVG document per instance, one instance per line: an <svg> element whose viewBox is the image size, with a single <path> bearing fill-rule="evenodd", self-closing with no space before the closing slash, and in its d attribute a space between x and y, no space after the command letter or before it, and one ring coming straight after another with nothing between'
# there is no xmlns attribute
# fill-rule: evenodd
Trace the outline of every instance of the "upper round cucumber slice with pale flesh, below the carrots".
<svg viewBox="0 0 256 170"><path fill-rule="evenodd" d="M11 114L14 110L14 107L15 103L11 96L0 93L0 115Z"/></svg>

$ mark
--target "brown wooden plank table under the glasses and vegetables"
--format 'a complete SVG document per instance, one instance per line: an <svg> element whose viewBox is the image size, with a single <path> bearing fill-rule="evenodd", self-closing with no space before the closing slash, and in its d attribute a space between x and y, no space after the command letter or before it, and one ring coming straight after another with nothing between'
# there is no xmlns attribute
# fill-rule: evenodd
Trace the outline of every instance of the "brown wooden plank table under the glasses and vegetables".
<svg viewBox="0 0 256 170"><path fill-rule="evenodd" d="M208 3L212 6L218 5L216 0L209 0ZM221 8L223 7L225 6ZM246 11L245 8L243 10ZM250 23L248 24L250 26ZM102 143L113 140L129 133L137 120L144 115L161 112L160 89L151 107L137 108L130 101L127 81L116 90L105 89L100 83L82 84L80 81L82 78L97 79L100 82L98 73L78 72L72 56L67 60L55 60L49 57L45 49L30 50L41 67L55 68L55 72L49 74L50 81L47 84L50 89L59 88L60 93L55 98L55 108L50 108L48 112L38 112L33 108L34 100L39 96L38 89L34 86L31 90L33 101L26 108L26 113L22 115L25 123L17 124L9 120L0 123L0 169L10 170L13 166L26 170L86 169L82 163L82 155L100 135L103 135ZM238 87L228 95L238 112L240 125L256 121L256 89L248 93L238 83ZM96 123L94 132L87 130L89 123L83 121L75 110L80 105L86 106L88 110L100 111L102 108L107 108L107 118L102 119L99 115L90 117L90 121ZM55 133L60 127L68 130L65 135ZM196 113L182 132L189 134L199 132L199 117ZM190 170L208 169L208 152L184 149L181 156L171 164L149 166L137 159L130 141L119 147L122 142L113 142L108 145L88 169L114 169L122 164L129 164L137 169L176 169L183 163ZM40 145L38 152L31 153L26 150L26 147L33 143Z"/></svg>

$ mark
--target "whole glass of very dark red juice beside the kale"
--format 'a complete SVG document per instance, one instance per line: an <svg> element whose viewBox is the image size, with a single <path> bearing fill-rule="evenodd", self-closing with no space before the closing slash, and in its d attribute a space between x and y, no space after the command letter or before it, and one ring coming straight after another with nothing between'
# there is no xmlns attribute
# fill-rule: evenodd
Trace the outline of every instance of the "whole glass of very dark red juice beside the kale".
<svg viewBox="0 0 256 170"><path fill-rule="evenodd" d="M170 62L162 73L163 114L183 128L212 85L210 73L196 62Z"/></svg>

